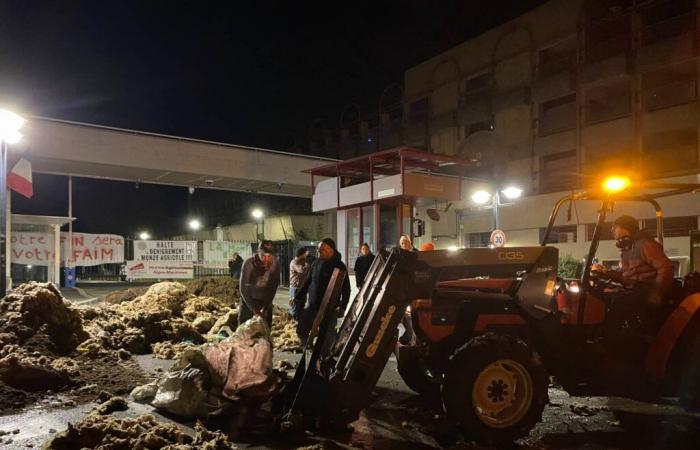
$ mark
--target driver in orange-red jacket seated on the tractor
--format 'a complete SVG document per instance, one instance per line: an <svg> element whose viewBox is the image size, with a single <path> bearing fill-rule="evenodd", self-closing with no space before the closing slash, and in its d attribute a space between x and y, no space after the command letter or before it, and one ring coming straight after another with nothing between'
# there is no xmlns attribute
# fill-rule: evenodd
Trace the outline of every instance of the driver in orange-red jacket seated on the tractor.
<svg viewBox="0 0 700 450"><path fill-rule="evenodd" d="M612 227L620 249L620 270L593 270L633 290L642 306L661 306L673 282L673 264L664 248L649 234L639 230L632 216L620 216Z"/></svg>

